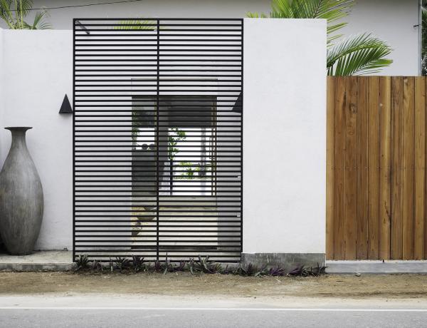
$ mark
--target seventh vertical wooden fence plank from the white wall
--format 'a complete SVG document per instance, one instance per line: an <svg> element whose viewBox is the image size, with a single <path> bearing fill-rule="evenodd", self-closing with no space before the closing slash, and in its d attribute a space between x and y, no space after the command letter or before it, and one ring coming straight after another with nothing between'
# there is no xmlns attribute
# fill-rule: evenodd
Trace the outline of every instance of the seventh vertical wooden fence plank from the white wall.
<svg viewBox="0 0 427 328"><path fill-rule="evenodd" d="M403 78L391 78L391 259L402 258Z"/></svg>

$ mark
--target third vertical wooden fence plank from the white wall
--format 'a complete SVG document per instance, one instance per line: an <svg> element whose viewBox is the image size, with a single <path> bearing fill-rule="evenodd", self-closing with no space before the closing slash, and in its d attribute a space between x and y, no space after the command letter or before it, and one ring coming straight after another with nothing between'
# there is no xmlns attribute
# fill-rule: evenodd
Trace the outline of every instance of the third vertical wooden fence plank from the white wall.
<svg viewBox="0 0 427 328"><path fill-rule="evenodd" d="M356 258L357 216L357 77L346 78L345 102L345 259Z"/></svg>

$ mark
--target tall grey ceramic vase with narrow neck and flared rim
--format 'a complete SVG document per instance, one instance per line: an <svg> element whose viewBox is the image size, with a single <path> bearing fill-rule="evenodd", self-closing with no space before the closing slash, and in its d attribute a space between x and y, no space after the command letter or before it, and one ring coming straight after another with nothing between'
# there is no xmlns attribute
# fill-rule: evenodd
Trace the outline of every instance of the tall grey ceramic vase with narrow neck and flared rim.
<svg viewBox="0 0 427 328"><path fill-rule="evenodd" d="M12 144L0 172L0 235L11 255L33 252L43 218L43 189L26 147L29 127L6 128Z"/></svg>

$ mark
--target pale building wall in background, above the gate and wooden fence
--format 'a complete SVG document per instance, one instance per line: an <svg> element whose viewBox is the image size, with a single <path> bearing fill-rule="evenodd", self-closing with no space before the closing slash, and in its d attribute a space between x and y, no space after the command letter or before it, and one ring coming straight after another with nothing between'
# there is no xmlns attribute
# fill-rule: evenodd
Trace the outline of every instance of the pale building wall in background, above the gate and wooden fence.
<svg viewBox="0 0 427 328"><path fill-rule="evenodd" d="M419 0L355 0L345 35L373 32L394 48L394 63L381 75L418 75ZM87 0L36 0L34 7L88 4ZM127 4L106 4L52 9L49 21L54 29L72 29L73 18L83 17L229 17L246 16L248 11L270 12L270 0L144 0ZM0 26L4 26L0 21Z"/></svg>

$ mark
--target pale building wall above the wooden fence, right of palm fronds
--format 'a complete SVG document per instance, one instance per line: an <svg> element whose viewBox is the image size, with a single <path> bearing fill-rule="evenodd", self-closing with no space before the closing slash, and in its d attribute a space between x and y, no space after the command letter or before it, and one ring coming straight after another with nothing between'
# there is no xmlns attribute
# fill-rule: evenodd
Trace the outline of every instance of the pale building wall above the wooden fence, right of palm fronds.
<svg viewBox="0 0 427 328"><path fill-rule="evenodd" d="M373 32L388 41L394 51L394 60L380 75L419 75L420 47L418 42L419 0L357 0L351 14L345 19L349 24L342 29L349 36L359 32ZM376 74L379 75L379 74Z"/></svg>

